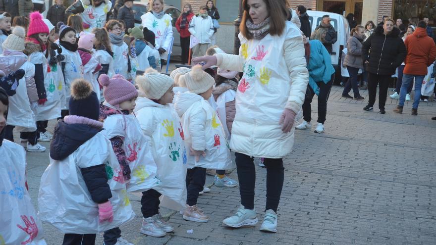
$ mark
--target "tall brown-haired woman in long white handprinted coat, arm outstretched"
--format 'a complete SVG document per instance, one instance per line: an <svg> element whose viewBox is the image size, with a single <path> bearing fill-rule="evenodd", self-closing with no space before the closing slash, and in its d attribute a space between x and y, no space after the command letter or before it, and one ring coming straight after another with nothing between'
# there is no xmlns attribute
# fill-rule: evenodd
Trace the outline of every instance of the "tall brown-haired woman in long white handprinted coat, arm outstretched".
<svg viewBox="0 0 436 245"><path fill-rule="evenodd" d="M254 209L253 157L267 167L267 205L261 231L276 232L276 210L284 180L283 157L294 142L293 123L304 101L309 73L303 39L285 0L244 0L239 55L214 54L192 60L203 68L243 71L236 93L230 148L236 152L241 206L223 220L230 227L258 222ZM268 4L268 8L267 8Z"/></svg>

